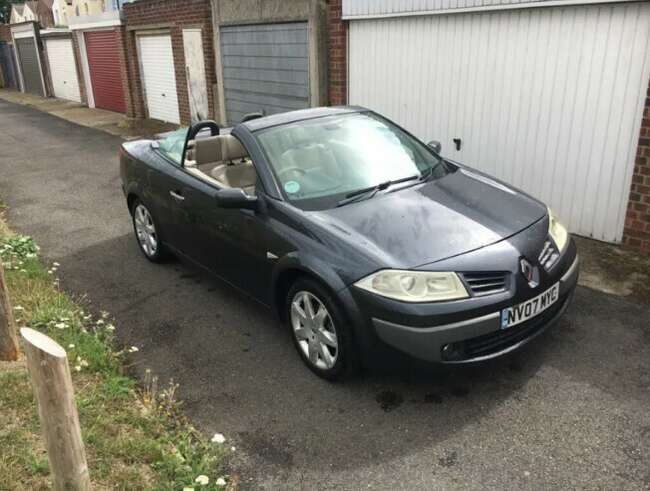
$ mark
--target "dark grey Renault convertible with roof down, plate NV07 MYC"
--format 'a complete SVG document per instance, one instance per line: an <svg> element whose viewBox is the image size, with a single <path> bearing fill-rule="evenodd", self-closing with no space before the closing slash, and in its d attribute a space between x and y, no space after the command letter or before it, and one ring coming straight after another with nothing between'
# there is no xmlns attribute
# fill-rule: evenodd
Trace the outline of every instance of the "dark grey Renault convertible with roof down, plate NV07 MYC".
<svg viewBox="0 0 650 491"><path fill-rule="evenodd" d="M272 307L335 379L394 350L493 358L569 304L578 256L553 213L439 150L319 108L125 143L121 176L149 260L171 251Z"/></svg>

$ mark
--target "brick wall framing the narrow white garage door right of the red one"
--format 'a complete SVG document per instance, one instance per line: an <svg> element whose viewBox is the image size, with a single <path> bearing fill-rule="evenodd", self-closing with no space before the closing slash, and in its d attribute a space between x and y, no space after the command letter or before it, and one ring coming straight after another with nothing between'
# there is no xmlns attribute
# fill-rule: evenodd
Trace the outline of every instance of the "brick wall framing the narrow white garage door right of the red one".
<svg viewBox="0 0 650 491"><path fill-rule="evenodd" d="M212 49L212 13L209 0L150 0L135 2L124 6L124 24L126 31L126 52L128 75L131 90L127 98L127 114L135 118L147 116L140 78L140 66L137 56L137 31L147 29L168 30L172 39L174 67L176 71L176 90L181 122L190 122L190 106L185 74L185 54L183 52L183 28L201 28L203 38L203 59L208 89L208 106L212 116L215 113L213 86L217 82L214 54Z"/></svg>

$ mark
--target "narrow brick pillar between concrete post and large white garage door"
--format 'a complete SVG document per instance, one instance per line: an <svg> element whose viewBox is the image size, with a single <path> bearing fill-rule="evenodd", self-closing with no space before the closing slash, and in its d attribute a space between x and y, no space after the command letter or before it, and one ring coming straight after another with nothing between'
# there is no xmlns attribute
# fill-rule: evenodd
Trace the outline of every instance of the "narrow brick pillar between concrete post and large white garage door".
<svg viewBox="0 0 650 491"><path fill-rule="evenodd" d="M327 4L329 103L332 106L348 102L348 23L341 20L342 0Z"/></svg>

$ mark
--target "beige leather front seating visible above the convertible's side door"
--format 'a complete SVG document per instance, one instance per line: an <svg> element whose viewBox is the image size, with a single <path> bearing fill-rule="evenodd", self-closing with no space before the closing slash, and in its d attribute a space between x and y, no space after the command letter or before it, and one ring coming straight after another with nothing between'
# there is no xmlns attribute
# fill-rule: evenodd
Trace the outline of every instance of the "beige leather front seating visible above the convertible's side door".
<svg viewBox="0 0 650 491"><path fill-rule="evenodd" d="M232 135L217 135L194 142L195 166L219 185L244 188L252 194L257 174L248 152Z"/></svg>

